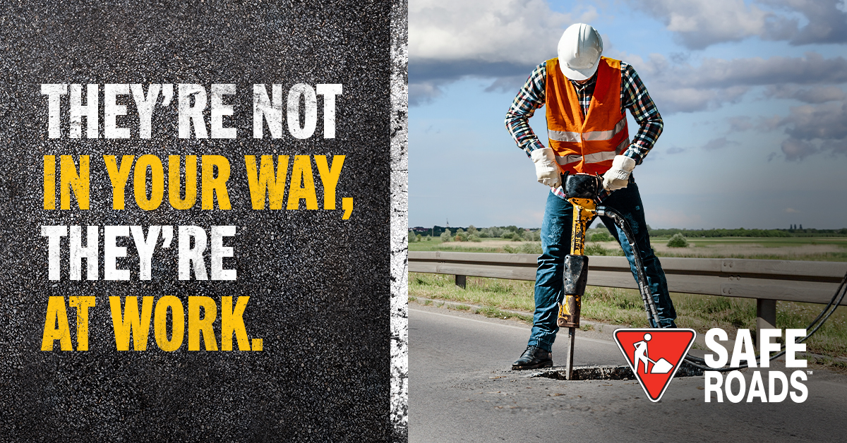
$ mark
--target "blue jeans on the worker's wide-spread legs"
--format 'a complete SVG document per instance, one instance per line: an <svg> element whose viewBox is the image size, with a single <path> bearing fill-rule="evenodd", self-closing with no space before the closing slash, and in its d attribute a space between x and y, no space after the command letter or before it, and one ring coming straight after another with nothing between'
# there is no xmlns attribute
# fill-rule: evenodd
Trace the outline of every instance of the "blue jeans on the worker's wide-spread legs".
<svg viewBox="0 0 847 443"><path fill-rule="evenodd" d="M602 204L608 208L616 209L627 220L629 229L635 236L635 244L639 248L641 262L644 264L647 283L653 302L656 302L656 310L659 313L659 323L662 328L675 328L673 320L677 313L673 309L673 302L667 293L667 280L662 271L659 258L650 248L650 235L647 234L647 223L644 218L644 205L638 185L630 180L629 186L612 192L606 197ZM558 303L562 302L563 281L562 272L565 256L571 251L571 229L572 229L573 205L552 192L548 193L547 204L544 211L544 219L541 221L541 256L538 257L538 271L535 274L535 314L533 317L532 334L529 335L529 345L538 346L545 351L551 351L553 341L556 340L556 325L558 317ZM621 243L623 254L629 261L629 268L633 277L638 281L635 270L635 262L632 248L626 241L626 235L612 219L601 217L606 229L612 233L615 240ZM623 241L622 241L623 240ZM590 267L590 263L589 263ZM591 280L589 280L589 285ZM646 315L646 313L645 313ZM650 326L655 328L656 324L650 319Z"/></svg>

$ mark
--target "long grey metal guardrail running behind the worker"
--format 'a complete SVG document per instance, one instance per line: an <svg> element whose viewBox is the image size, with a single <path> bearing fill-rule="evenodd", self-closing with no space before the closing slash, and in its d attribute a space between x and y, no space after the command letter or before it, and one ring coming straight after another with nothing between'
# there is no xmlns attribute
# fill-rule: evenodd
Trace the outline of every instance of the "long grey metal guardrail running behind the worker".
<svg viewBox="0 0 847 443"><path fill-rule="evenodd" d="M538 256L484 252L409 252L409 271L465 277L535 280ZM662 257L671 292L755 298L756 327L774 328L777 301L828 303L847 263ZM588 284L638 289L626 257L590 257ZM847 299L841 303L847 305Z"/></svg>

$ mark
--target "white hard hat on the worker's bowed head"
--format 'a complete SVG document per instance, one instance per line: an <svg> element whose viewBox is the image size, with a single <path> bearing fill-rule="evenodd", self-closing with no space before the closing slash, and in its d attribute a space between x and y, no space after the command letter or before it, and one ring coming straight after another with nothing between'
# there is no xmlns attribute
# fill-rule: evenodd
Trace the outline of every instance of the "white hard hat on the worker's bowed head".
<svg viewBox="0 0 847 443"><path fill-rule="evenodd" d="M568 79L585 80L597 72L603 39L591 25L570 25L559 40L559 69Z"/></svg>

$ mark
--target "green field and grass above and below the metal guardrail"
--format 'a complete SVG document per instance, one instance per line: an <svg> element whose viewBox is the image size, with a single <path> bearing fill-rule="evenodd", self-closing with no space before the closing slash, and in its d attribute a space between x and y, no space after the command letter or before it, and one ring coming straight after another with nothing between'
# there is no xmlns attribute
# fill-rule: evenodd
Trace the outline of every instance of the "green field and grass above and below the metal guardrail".
<svg viewBox="0 0 847 443"><path fill-rule="evenodd" d="M436 227L437 228L437 227ZM847 229L809 230L650 230L650 245L658 257L756 258L847 262ZM410 233L410 251L458 251L540 254L540 230L504 226L478 229L435 229ZM586 232L585 253L590 256L623 256L620 246L604 226ZM467 289L454 284L452 275L409 274L409 296L476 305L489 317L517 318L532 323L533 283L468 277ZM756 300L673 293L680 327L698 333L714 327L732 333L756 328ZM805 328L824 305L778 302L777 326ZM515 311L516 313L509 313ZM647 326L638 291L589 287L583 299L582 318L634 327ZM809 341L808 352L847 357L847 307L839 307ZM819 362L821 363L821 362ZM824 360L824 365L847 366ZM839 369L839 368L837 368ZM844 370L844 368L840 368Z"/></svg>

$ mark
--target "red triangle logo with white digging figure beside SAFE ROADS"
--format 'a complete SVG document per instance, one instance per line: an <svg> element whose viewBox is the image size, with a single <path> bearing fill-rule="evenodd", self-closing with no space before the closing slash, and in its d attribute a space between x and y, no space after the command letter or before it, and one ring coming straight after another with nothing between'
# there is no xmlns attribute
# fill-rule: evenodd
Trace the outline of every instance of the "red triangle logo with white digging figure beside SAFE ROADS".
<svg viewBox="0 0 847 443"><path fill-rule="evenodd" d="M650 401L659 401L697 333L694 329L617 329L617 347Z"/></svg>

